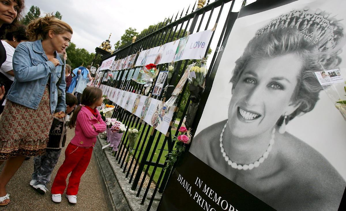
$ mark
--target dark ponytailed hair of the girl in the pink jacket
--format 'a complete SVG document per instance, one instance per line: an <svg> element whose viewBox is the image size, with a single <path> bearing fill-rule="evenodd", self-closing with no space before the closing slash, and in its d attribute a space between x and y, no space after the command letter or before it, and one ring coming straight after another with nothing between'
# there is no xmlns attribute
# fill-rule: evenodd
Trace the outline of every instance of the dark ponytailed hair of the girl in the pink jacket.
<svg viewBox="0 0 346 211"><path fill-rule="evenodd" d="M81 103L83 105L92 105L95 101L102 98L102 90L95 86L89 86L84 89L82 97L81 97ZM79 111L81 110L82 105L78 105L78 107L73 111L72 117L70 119L69 127L72 129L76 126L77 116Z"/></svg>

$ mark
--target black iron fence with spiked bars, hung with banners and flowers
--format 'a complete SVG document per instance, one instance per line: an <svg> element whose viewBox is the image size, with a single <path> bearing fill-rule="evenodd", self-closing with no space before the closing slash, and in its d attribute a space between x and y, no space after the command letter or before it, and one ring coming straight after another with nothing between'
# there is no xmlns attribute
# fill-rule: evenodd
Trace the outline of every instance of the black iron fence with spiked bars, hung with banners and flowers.
<svg viewBox="0 0 346 211"><path fill-rule="evenodd" d="M138 35L136 42L123 44L115 50L115 53L103 60L115 55L116 59L125 58L128 55L135 54L142 50L180 39L188 33L193 34L217 26L216 30L213 31L211 41L207 48L209 49L211 47L211 53L209 51L210 54L208 54L207 51L205 55L205 57L209 57L209 75L212 66L215 63L218 51L222 50L220 44L222 43L222 38L227 27L228 19L230 18L230 11L234 5L234 1L207 1L202 8L197 8L198 3L203 3L203 1L195 2L195 4L191 7L189 6L188 9L165 18L164 21L156 24L154 27L150 27L148 30ZM152 97L161 101L168 99L171 96L175 85L180 80L180 77L183 75L185 68L192 62L193 61L190 60L176 62L171 80L167 81L164 85L167 85L165 91L163 91L160 96ZM157 65L159 70L163 70L167 67L168 64ZM107 74L107 71L104 74ZM126 80L127 75L125 74L129 74L129 72L126 70L119 71L119 74L115 79L113 79L113 81L101 82L101 84L125 91L144 94L144 85L138 84L133 80ZM126 77L124 77L124 75ZM124 80L122 80L123 78ZM155 84L155 81L153 84ZM144 204L149 189L152 189L152 196L150 197L147 210L151 209L151 205L157 192L162 193L164 191L167 180L171 174L171 169L164 169L166 166L165 155L171 153L173 150L175 141L172 141L171 134L174 134L175 136L178 134L177 128L182 125L190 103L189 90L187 87L188 83L184 85L184 88L175 103L176 109L167 135L157 131L130 111L126 111L120 106L115 105L116 107L113 112L113 118L117 118L119 121L125 123L127 128L135 127L140 130L139 137L134 147L134 152L128 161L126 159L129 153L128 131L124 132L118 151L113 155L118 161L118 164L120 164L120 167L123 169L122 172L124 173L124 177L128 178L129 183L132 184L131 189L137 191L137 197L139 197L140 193L143 193L144 191L141 204ZM153 88L154 86L152 89ZM151 92L152 90L149 93ZM111 101L109 103L114 104Z"/></svg>

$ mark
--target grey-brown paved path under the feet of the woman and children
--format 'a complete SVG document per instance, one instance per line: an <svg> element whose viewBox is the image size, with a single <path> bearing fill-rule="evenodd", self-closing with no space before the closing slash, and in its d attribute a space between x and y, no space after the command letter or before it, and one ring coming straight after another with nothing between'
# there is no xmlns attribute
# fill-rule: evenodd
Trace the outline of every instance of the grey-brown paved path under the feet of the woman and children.
<svg viewBox="0 0 346 211"><path fill-rule="evenodd" d="M74 129L67 131L67 144L74 136ZM66 147L65 147L66 148ZM48 190L45 195L37 193L29 182L31 173L33 173L33 158L25 160L17 173L12 177L7 185L7 192L10 194L11 202L2 210L108 210L103 190L100 184L94 155L91 157L88 169L81 178L79 186L77 204L70 204L65 195L62 196L61 203L54 203L51 198L51 186L53 184L56 172L65 159L65 148L61 153L59 161L52 173L51 182L48 183ZM2 166L0 167L2 170Z"/></svg>

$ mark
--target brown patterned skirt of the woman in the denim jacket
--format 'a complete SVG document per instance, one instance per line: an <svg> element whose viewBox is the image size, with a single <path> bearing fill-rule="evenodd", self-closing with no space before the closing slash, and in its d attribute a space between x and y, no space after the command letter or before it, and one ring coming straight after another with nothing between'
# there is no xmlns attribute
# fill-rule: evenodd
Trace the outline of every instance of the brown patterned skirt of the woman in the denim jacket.
<svg viewBox="0 0 346 211"><path fill-rule="evenodd" d="M52 122L48 86L37 110L7 100L0 120L0 160L45 154Z"/></svg>

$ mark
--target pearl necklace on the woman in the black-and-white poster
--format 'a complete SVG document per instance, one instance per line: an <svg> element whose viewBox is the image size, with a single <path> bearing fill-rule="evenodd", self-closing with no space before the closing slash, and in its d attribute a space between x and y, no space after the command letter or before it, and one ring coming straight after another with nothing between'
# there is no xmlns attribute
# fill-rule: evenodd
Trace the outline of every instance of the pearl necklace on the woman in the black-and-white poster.
<svg viewBox="0 0 346 211"><path fill-rule="evenodd" d="M236 162L232 162L232 160L229 159L229 156L225 152L224 144L222 143L222 135L224 135L224 131L225 131L225 128L227 126L227 122L226 122L226 124L225 124L225 126L222 129L222 132L220 134L220 148L221 148L222 156L225 158L228 165L232 166L232 168L236 168L239 170L242 170L242 169L243 170L247 170L247 169L251 170L254 167L255 168L258 167L268 157L270 151L272 150L272 147L274 144L274 138L275 138L275 128L272 131L272 138L269 141L269 146L268 146L267 150L265 151L265 153L262 155L262 157L260 159L256 160L254 163L240 165L240 164L237 164Z"/></svg>

